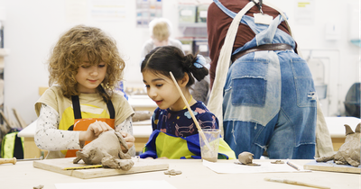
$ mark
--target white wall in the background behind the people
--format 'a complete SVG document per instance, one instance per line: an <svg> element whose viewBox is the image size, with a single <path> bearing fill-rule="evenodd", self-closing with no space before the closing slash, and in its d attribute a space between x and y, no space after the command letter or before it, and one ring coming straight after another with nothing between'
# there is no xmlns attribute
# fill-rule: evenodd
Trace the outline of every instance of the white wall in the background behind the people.
<svg viewBox="0 0 361 189"><path fill-rule="evenodd" d="M72 0L74 1L74 0ZM120 0L126 6L126 18L120 22L95 22L87 18L81 23L94 25L113 36L119 50L124 55L125 86L143 87L139 71L140 49L149 38L148 29L135 26L135 1ZM5 106L15 108L24 121L30 123L36 119L33 105L40 97L39 86L48 85L48 71L45 65L51 47L63 31L77 23L68 21L64 0L0 0L0 6L6 9L5 48L10 54L5 57ZM79 2L91 3L91 0ZM296 0L272 0L289 16L292 31L302 52L308 56L309 49L313 55L329 58L332 66L330 79L333 86L329 100L330 115L343 111L342 103L348 88L360 81L360 48L349 42L351 29L347 4L356 4L357 0L314 0L314 23L304 25L295 22ZM163 16L173 23L173 37L179 37L177 29L177 0L163 0ZM326 5L327 4L327 5ZM325 40L327 23L335 23L340 31L338 40ZM353 27L353 29L358 27ZM335 55L336 54L336 55ZM328 58L327 58L328 59ZM332 79L331 79L332 78ZM336 79L335 79L336 78ZM336 104L336 105L334 105ZM9 111L11 112L11 111ZM10 113L10 118L14 116Z"/></svg>

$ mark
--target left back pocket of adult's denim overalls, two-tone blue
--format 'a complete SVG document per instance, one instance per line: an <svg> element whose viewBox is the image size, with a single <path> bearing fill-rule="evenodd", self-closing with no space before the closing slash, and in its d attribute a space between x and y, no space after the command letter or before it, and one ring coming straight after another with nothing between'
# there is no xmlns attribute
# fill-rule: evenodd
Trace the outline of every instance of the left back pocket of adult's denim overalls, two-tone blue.
<svg viewBox="0 0 361 189"><path fill-rule="evenodd" d="M266 94L266 73L268 61L265 59L236 62L232 67L232 104L264 106Z"/></svg>

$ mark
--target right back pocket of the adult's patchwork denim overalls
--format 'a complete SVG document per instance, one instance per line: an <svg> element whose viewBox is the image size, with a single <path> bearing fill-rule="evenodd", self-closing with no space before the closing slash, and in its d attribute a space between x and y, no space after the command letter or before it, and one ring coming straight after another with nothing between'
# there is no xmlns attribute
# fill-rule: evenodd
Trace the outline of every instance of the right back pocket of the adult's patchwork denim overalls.
<svg viewBox="0 0 361 189"><path fill-rule="evenodd" d="M291 61L294 85L297 91L297 105L299 107L316 107L317 94L306 60L292 58Z"/></svg>

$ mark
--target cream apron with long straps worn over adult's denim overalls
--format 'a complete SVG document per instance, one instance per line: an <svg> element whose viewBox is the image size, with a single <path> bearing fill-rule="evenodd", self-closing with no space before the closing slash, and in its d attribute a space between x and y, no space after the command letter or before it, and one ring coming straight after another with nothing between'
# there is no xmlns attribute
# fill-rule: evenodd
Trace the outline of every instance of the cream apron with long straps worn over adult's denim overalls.
<svg viewBox="0 0 361 189"><path fill-rule="evenodd" d="M215 4L218 5L218 7L222 11L224 11L225 13L227 12L227 11L225 11L227 8L224 7L222 4L220 4L220 2L218 0L213 0L213 1ZM258 3L258 0L255 0L255 2L250 2L250 3L246 4L245 7L238 14L234 14L231 12L226 13L230 17L233 17L234 20L231 23L231 25L229 26L224 45L219 54L218 67L216 68L215 84L213 85L213 88L212 88L212 91L211 91L211 94L210 94L209 100L208 100L208 110L210 112L213 112L218 117L219 129L222 130L222 136L223 136L223 132L224 132L224 129L223 129L224 112L222 110L222 103L223 103L223 98L224 98L223 89L224 89L224 86L225 86L226 80L227 80L228 68L229 68L229 65L231 64L230 59L232 56L233 43L236 39L236 32L238 29L237 26L241 22L243 15L257 3ZM287 17L282 13L282 11L279 8L277 8L276 6L274 6L273 4L266 3L266 5L277 10L281 14L282 20L287 24L290 35L292 36L291 28L289 27L289 25L287 23ZM261 35L260 35L260 37L261 37ZM236 54L240 50L249 49L252 46L255 46L255 41L252 41L252 42L250 41L249 43L246 43L245 46L242 47L243 49L242 48L236 49L236 51L233 54ZM299 56L302 57L301 50L299 50L300 49L299 46L297 46L297 49L298 49L297 51L298 51ZM332 143L331 143L330 137L329 137L329 130L327 128L326 122L324 121L325 119L323 116L323 112L319 108L319 99L318 98L317 98L317 106L318 106L318 108L317 108L316 137L317 137L317 139L321 140L320 142L317 142L317 154L319 156L322 156L324 154L329 154L329 152L332 152Z"/></svg>

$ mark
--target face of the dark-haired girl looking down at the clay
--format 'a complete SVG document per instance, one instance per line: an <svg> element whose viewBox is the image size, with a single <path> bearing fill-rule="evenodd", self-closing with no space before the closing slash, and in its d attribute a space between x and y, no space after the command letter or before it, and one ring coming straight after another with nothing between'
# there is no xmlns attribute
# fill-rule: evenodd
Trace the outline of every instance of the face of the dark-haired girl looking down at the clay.
<svg viewBox="0 0 361 189"><path fill-rule="evenodd" d="M183 109L184 103L170 77L155 75L149 70L145 70L142 75L148 96L157 103L159 108L171 108L172 111Z"/></svg>

